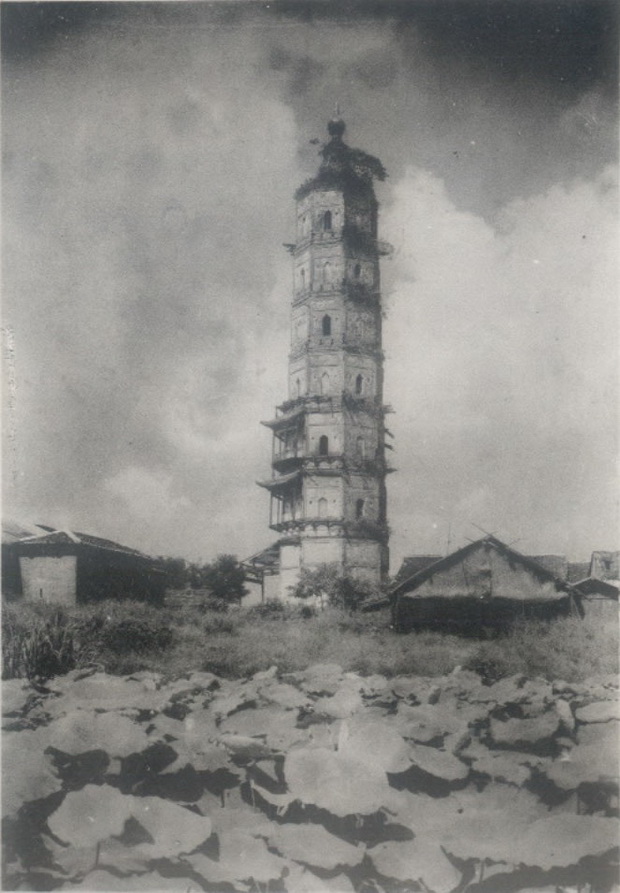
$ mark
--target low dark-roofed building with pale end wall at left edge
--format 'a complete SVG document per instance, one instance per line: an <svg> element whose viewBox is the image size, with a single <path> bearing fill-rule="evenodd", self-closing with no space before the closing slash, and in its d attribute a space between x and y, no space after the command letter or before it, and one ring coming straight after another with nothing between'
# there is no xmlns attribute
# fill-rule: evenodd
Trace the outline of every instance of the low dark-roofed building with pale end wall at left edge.
<svg viewBox="0 0 620 893"><path fill-rule="evenodd" d="M3 532L3 580L9 598L75 605L105 598L163 600L167 575L156 561L127 546L86 533L41 528L13 538Z"/></svg>

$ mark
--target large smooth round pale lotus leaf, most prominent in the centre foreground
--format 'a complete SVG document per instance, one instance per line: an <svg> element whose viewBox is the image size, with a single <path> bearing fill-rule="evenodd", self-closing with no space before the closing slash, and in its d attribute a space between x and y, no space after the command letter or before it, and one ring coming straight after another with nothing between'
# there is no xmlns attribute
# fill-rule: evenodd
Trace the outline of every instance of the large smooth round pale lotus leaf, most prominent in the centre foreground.
<svg viewBox="0 0 620 893"><path fill-rule="evenodd" d="M284 776L293 797L339 816L373 813L394 802L382 769L322 747L291 750Z"/></svg>

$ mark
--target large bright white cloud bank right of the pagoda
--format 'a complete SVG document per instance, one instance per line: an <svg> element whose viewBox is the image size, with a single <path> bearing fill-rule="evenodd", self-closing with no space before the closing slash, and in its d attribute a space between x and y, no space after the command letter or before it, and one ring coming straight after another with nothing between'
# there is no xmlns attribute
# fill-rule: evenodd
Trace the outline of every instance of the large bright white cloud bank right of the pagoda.
<svg viewBox="0 0 620 893"><path fill-rule="evenodd" d="M382 231L396 248L385 325L395 554L430 547L429 513L461 541L475 522L525 530L532 550L611 547L613 172L514 201L491 225L411 168Z"/></svg>

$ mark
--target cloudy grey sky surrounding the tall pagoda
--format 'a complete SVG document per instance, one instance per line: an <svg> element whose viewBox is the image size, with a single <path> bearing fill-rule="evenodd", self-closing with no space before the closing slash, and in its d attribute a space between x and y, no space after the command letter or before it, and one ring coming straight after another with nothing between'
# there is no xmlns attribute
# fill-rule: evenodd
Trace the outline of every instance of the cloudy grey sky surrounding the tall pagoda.
<svg viewBox="0 0 620 893"><path fill-rule="evenodd" d="M4 3L4 512L152 554L276 537L295 188L381 158L392 571L616 547L605 2Z"/></svg>

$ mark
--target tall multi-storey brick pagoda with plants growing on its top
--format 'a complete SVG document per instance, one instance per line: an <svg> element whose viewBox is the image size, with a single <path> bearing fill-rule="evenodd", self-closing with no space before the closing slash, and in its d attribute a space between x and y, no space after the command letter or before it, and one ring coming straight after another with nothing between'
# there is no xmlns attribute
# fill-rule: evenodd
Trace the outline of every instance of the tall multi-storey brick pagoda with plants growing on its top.
<svg viewBox="0 0 620 893"><path fill-rule="evenodd" d="M381 162L328 124L318 174L295 195L288 399L276 417L270 526L281 534L266 596L286 598L301 568L336 565L379 583L388 568L379 257L373 181ZM273 552L272 552L273 554ZM274 568L275 570L276 568Z"/></svg>

